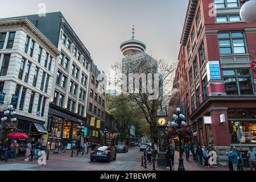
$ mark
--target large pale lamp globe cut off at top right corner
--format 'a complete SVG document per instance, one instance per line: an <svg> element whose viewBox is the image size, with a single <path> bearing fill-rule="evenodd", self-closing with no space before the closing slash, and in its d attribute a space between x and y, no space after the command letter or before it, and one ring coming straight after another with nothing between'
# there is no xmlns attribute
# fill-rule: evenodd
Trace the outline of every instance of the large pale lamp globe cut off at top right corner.
<svg viewBox="0 0 256 182"><path fill-rule="evenodd" d="M242 20L244 20L247 23L255 23L256 22L255 7L256 7L256 0L246 1L240 10L240 16Z"/></svg>

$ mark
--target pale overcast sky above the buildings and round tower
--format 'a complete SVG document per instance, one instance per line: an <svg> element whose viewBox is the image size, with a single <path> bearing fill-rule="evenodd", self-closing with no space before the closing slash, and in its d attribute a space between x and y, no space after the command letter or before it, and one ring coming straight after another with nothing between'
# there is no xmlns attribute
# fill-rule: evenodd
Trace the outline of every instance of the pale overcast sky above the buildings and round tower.
<svg viewBox="0 0 256 182"><path fill-rule="evenodd" d="M3 1L3 0L0 0ZM176 61L188 0L22 0L4 1L0 18L61 11L88 48L94 63L109 73L110 64L122 59L120 44L131 39L146 43L156 60Z"/></svg>

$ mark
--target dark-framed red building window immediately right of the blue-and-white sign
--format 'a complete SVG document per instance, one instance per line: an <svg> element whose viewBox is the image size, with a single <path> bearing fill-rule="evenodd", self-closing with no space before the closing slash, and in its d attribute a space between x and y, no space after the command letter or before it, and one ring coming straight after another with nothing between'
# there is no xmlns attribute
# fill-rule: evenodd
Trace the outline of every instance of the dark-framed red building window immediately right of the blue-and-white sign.
<svg viewBox="0 0 256 182"><path fill-rule="evenodd" d="M253 85L250 69L223 69L225 90L228 95L251 95Z"/></svg>

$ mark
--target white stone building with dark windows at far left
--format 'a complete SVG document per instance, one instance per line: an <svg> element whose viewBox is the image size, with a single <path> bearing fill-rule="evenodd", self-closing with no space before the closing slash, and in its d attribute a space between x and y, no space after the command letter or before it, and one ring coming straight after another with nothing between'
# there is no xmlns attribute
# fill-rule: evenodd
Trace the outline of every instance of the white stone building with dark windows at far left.
<svg viewBox="0 0 256 182"><path fill-rule="evenodd" d="M47 133L55 60L59 55L27 19L0 20L0 93L5 93L0 115L13 104L18 131L31 134L34 140ZM18 100L11 103L14 96Z"/></svg>

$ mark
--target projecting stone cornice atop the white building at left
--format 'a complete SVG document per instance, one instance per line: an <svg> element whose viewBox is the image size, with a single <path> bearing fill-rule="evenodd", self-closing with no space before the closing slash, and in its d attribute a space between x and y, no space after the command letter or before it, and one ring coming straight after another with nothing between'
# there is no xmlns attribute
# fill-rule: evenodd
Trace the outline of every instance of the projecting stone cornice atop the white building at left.
<svg viewBox="0 0 256 182"><path fill-rule="evenodd" d="M33 36L38 42L44 44L55 57L60 55L58 49L53 46L53 44L26 18L13 19L13 20L0 20L0 30L13 29L13 28L23 28Z"/></svg>

